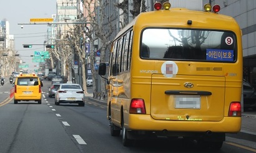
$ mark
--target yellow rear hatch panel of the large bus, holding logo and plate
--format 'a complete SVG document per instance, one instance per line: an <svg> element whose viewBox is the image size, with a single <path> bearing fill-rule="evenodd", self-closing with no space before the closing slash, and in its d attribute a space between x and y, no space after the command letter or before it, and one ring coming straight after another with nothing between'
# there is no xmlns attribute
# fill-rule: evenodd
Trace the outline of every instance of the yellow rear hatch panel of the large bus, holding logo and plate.
<svg viewBox="0 0 256 153"><path fill-rule="evenodd" d="M224 118L224 76L164 78L153 74L151 88L150 114L154 119L220 121Z"/></svg>

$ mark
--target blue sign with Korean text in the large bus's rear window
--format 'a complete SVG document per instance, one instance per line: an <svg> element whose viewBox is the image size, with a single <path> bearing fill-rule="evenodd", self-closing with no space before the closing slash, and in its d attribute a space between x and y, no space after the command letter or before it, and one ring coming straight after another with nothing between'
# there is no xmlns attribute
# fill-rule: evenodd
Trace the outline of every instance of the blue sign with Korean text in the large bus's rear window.
<svg viewBox="0 0 256 153"><path fill-rule="evenodd" d="M234 61L234 50L206 49L206 60Z"/></svg>

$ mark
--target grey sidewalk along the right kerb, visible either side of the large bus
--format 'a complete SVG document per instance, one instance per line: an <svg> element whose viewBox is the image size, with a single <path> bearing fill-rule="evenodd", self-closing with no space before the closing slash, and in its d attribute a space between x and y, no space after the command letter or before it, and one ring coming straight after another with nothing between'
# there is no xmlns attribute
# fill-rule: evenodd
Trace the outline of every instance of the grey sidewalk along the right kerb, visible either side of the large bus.
<svg viewBox="0 0 256 153"><path fill-rule="evenodd" d="M106 103L106 101L92 98L92 93L86 94L89 101ZM256 111L248 111L242 113L242 125L240 132L252 134L256 136Z"/></svg>

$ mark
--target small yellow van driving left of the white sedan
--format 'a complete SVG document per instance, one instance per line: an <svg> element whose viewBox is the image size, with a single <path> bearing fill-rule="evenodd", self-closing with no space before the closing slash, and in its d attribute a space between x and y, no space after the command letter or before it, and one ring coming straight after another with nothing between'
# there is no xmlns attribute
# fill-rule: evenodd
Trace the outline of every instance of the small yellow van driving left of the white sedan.
<svg viewBox="0 0 256 153"><path fill-rule="evenodd" d="M42 82L35 74L20 74L14 83L14 104L18 101L42 103Z"/></svg>

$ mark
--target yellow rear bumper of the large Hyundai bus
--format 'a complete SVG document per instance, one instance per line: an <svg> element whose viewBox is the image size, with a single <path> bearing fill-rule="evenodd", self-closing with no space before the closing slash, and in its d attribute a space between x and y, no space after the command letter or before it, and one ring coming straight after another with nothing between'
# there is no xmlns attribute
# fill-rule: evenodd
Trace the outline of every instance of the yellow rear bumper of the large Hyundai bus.
<svg viewBox="0 0 256 153"><path fill-rule="evenodd" d="M240 131L240 117L224 117L220 121L174 121L155 120L150 115L130 114L127 130L135 131L168 131L168 132L224 132Z"/></svg>

